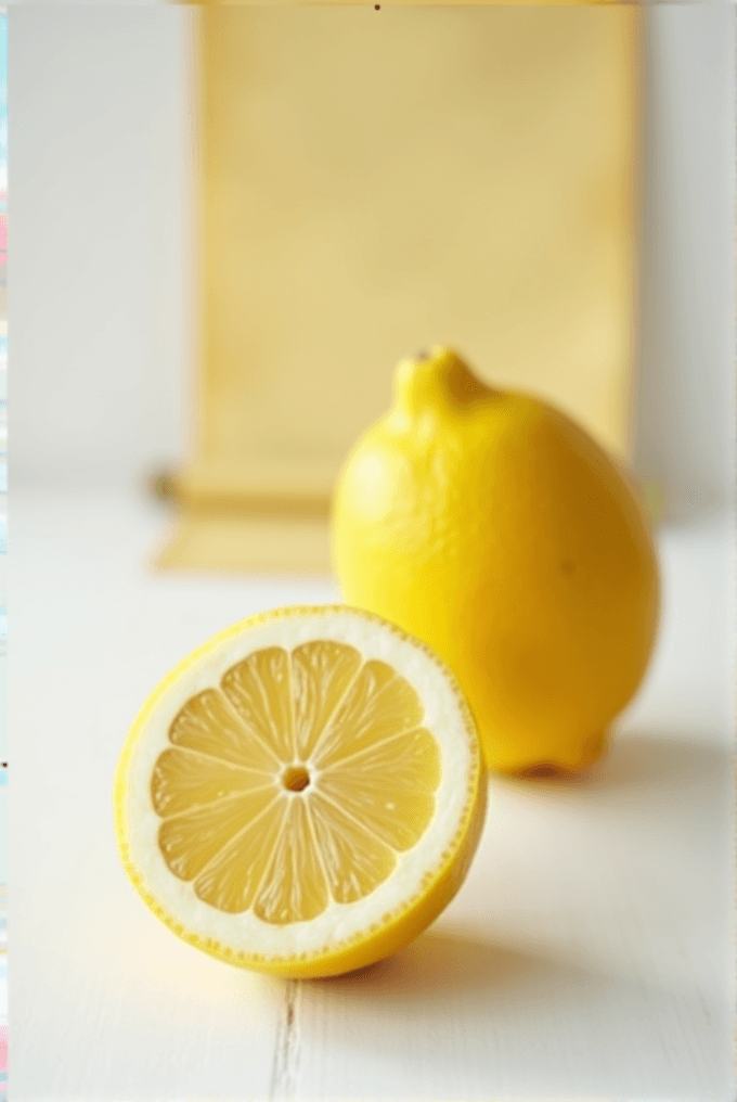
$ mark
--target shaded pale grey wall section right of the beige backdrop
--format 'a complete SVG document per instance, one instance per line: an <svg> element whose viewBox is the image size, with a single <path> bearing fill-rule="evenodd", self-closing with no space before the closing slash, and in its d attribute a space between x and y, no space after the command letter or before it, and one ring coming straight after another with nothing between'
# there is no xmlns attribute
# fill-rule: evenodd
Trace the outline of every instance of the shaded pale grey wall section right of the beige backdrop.
<svg viewBox="0 0 737 1102"><path fill-rule="evenodd" d="M678 517L733 493L735 9L652 8L643 52L635 465Z"/></svg>

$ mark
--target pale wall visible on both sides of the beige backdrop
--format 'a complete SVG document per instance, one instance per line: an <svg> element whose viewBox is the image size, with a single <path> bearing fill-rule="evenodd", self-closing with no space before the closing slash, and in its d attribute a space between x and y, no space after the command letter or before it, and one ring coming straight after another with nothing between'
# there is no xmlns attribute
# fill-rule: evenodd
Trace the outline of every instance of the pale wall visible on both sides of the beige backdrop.
<svg viewBox="0 0 737 1102"><path fill-rule="evenodd" d="M10 12L10 455L130 482L185 454L186 28L167 7ZM636 465L683 515L731 487L735 10L646 12Z"/></svg>

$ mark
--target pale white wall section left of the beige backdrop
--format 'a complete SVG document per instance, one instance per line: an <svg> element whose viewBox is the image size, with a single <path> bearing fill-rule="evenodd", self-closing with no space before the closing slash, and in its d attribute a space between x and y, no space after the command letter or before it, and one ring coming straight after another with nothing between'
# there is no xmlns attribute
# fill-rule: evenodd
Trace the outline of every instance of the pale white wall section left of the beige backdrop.
<svg viewBox="0 0 737 1102"><path fill-rule="evenodd" d="M189 19L10 11L12 480L130 480L183 453Z"/></svg>

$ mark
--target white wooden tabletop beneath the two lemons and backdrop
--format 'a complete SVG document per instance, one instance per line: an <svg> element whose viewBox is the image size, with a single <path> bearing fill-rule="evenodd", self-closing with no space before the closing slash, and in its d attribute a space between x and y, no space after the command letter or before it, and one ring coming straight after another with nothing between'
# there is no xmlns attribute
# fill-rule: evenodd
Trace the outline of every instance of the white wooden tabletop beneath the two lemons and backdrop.
<svg viewBox="0 0 737 1102"><path fill-rule="evenodd" d="M733 529L661 533L659 649L586 784L491 782L435 925L333 981L231 969L174 938L119 865L127 727L189 649L329 580L156 575L124 495L13 490L12 1102L731 1100Z"/></svg>

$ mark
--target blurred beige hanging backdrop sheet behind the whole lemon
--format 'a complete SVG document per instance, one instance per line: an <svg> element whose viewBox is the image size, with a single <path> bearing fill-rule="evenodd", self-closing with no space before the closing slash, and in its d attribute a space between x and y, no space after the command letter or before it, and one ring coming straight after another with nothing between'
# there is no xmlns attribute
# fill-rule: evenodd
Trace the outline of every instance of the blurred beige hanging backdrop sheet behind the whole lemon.
<svg viewBox="0 0 737 1102"><path fill-rule="evenodd" d="M196 439L163 561L326 569L339 463L432 344L625 454L637 10L197 23Z"/></svg>

